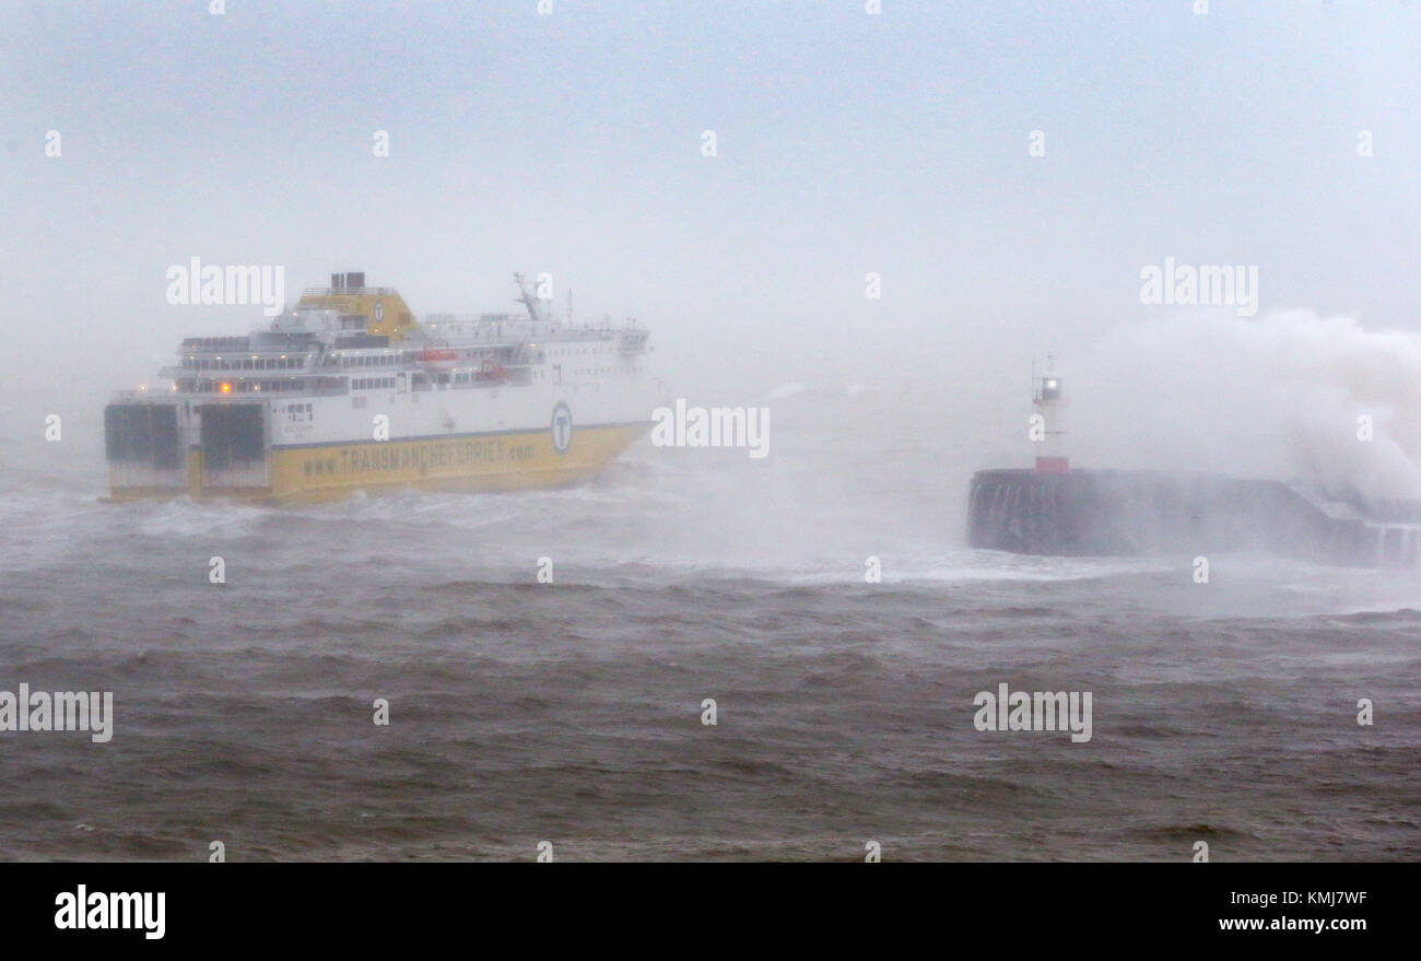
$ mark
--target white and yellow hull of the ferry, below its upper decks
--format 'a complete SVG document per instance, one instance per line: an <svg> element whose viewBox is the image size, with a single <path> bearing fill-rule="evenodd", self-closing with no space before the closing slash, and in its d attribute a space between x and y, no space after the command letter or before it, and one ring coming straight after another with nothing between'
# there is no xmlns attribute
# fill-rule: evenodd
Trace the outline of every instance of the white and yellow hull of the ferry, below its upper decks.
<svg viewBox="0 0 1421 961"><path fill-rule="evenodd" d="M597 473L651 429L641 385L387 394L361 407L350 395L155 398L153 405L173 408L165 417L176 418L185 453L161 471L111 461L114 500L310 502L398 488L554 488ZM202 422L237 408L246 409L253 432L260 425L260 456L213 463ZM381 418L389 439L379 439Z"/></svg>

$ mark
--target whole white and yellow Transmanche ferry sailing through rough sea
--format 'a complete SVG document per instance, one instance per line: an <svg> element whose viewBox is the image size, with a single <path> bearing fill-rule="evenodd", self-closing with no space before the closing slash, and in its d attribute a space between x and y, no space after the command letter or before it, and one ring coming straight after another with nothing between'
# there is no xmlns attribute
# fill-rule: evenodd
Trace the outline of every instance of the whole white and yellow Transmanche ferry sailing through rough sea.
<svg viewBox="0 0 1421 961"><path fill-rule="evenodd" d="M331 276L246 337L189 337L166 387L104 411L109 496L327 500L360 489L574 483L652 425L649 331L428 314Z"/></svg>

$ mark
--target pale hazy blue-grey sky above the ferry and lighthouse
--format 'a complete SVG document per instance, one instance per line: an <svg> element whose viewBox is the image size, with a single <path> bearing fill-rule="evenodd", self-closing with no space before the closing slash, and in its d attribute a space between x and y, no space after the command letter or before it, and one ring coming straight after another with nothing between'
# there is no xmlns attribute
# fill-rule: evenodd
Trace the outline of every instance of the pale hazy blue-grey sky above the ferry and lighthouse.
<svg viewBox="0 0 1421 961"><path fill-rule="evenodd" d="M293 299L364 269L416 313L549 270L769 385L1016 382L1152 317L1167 256L1256 264L1265 313L1421 317L1415 3L226 6L0 4L0 284L38 357L7 402L256 323L166 304L189 256Z"/></svg>

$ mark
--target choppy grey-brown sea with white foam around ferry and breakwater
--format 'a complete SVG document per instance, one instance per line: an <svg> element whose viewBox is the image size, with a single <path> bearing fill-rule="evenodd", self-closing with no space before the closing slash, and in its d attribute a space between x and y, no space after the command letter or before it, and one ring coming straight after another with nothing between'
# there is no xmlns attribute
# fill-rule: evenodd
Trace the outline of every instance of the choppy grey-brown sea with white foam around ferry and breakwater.
<svg viewBox="0 0 1421 961"><path fill-rule="evenodd" d="M0 732L0 859L1421 854L1414 571L971 550L1010 465L773 405L763 459L524 493L114 505L97 429L6 458L0 691L112 691L114 734ZM1090 741L976 729L1003 682L1090 692Z"/></svg>

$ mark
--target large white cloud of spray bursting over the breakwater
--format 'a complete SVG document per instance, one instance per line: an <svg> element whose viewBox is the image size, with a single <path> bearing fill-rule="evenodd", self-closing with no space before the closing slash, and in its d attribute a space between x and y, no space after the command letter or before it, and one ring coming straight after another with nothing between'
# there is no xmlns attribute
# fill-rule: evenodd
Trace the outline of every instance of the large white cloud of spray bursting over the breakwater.
<svg viewBox="0 0 1421 961"><path fill-rule="evenodd" d="M1107 334L1071 385L1083 465L1421 495L1417 333L1304 310L1177 310Z"/></svg>

